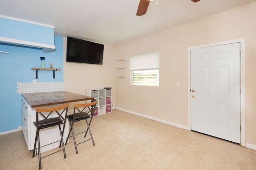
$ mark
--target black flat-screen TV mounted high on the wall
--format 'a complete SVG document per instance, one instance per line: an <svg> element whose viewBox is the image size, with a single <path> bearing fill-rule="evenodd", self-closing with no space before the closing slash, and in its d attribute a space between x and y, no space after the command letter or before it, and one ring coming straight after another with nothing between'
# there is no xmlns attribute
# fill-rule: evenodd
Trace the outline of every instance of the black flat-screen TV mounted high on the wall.
<svg viewBox="0 0 256 170"><path fill-rule="evenodd" d="M102 44L68 37L66 61L102 65L103 49Z"/></svg>

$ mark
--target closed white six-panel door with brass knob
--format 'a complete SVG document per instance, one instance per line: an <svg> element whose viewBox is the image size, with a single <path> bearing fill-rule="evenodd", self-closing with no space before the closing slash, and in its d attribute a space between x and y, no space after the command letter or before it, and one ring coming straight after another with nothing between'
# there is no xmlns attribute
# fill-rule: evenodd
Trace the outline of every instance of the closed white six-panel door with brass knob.
<svg viewBox="0 0 256 170"><path fill-rule="evenodd" d="M240 143L240 43L191 50L191 130Z"/></svg>

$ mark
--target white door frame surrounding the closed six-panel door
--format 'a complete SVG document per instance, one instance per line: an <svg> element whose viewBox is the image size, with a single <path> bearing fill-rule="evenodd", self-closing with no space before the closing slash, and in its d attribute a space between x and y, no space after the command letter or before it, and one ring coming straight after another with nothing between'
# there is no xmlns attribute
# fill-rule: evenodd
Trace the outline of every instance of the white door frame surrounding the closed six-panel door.
<svg viewBox="0 0 256 170"><path fill-rule="evenodd" d="M245 57L244 57L244 38L234 39L230 41L222 41L218 43L211 43L206 45L199 45L188 47L188 130L191 131L191 50L205 47L212 47L217 45L226 45L231 43L240 43L240 145L245 147Z"/></svg>

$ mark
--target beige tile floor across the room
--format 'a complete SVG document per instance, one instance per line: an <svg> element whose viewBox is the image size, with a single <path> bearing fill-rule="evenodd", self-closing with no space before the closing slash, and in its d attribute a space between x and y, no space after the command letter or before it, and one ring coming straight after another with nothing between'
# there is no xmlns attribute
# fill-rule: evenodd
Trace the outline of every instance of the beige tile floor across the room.
<svg viewBox="0 0 256 170"><path fill-rule="evenodd" d="M76 154L70 138L67 158L63 152L43 158L42 170L256 170L256 150L117 109L94 117L91 129L95 146L82 143ZM0 170L37 169L22 131L0 136Z"/></svg>

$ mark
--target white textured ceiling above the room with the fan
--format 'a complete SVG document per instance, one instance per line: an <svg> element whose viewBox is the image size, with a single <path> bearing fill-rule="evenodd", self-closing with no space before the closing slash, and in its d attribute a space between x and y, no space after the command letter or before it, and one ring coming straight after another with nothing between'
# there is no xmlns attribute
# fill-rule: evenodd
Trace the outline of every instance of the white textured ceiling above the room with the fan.
<svg viewBox="0 0 256 170"><path fill-rule="evenodd" d="M256 0L0 0L0 15L55 26L54 33L116 45Z"/></svg>

